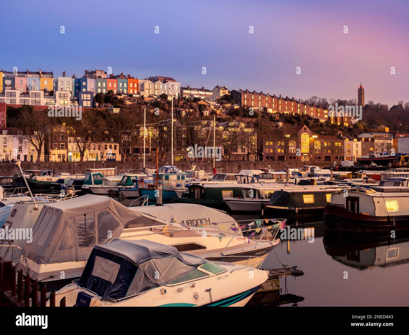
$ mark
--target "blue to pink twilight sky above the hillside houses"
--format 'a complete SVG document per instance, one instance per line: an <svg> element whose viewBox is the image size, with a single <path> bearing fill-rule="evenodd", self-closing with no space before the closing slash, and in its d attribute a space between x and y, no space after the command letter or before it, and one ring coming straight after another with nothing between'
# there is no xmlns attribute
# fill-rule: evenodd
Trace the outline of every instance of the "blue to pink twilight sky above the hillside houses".
<svg viewBox="0 0 409 335"><path fill-rule="evenodd" d="M81 77L111 66L296 99L357 98L362 82L365 101L409 101L409 1L2 1L0 9L7 71Z"/></svg>

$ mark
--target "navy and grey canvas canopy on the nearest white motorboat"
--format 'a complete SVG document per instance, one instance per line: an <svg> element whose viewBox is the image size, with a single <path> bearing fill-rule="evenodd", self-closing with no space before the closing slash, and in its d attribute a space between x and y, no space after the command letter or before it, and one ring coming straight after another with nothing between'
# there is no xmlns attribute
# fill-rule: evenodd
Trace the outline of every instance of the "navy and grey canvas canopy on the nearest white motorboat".
<svg viewBox="0 0 409 335"><path fill-rule="evenodd" d="M205 263L169 245L115 239L94 246L77 284L103 299L122 299L172 283Z"/></svg>

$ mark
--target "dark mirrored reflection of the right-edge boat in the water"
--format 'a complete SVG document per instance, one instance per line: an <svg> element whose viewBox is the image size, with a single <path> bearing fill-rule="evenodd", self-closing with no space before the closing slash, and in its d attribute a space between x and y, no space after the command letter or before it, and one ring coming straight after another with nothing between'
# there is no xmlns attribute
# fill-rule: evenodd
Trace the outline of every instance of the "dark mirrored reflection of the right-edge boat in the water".
<svg viewBox="0 0 409 335"><path fill-rule="evenodd" d="M365 270L409 262L409 230L387 233L336 232L326 229L324 248L336 261Z"/></svg>

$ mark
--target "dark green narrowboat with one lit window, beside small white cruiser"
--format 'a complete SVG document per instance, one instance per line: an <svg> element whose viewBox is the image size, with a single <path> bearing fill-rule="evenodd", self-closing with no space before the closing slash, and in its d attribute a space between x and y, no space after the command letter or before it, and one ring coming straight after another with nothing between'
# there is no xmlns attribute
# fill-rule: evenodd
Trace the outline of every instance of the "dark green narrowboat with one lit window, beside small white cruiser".
<svg viewBox="0 0 409 335"><path fill-rule="evenodd" d="M175 202L205 205L214 208L228 208L223 198L238 198L240 184L191 184L182 196L171 198Z"/></svg>

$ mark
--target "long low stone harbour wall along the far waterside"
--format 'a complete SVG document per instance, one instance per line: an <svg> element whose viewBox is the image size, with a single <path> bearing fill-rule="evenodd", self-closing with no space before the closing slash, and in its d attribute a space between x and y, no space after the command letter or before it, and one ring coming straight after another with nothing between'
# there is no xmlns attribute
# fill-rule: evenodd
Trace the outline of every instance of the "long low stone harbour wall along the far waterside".
<svg viewBox="0 0 409 335"><path fill-rule="evenodd" d="M288 161L288 162L249 162L249 161L234 161L234 162L216 162L216 169L223 168L223 172L239 172L240 170L258 170L258 169L274 169L285 170L285 166L290 168L300 168L303 165L316 165L319 167L328 166L331 162L324 161ZM170 162L159 162L158 166L170 165ZM195 163L197 168L211 172L213 170L213 162L204 161ZM181 170L185 171L191 168L191 162L175 162ZM270 166L270 167L269 167ZM116 167L117 173L121 170L142 169L143 162L21 162L23 170L55 170L58 172L67 173L84 173L85 169L99 169L103 167ZM156 162L146 162L146 167L156 169ZM18 173L18 167L13 163L0 163L1 176L13 176Z"/></svg>

